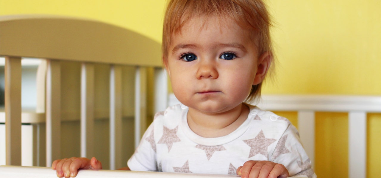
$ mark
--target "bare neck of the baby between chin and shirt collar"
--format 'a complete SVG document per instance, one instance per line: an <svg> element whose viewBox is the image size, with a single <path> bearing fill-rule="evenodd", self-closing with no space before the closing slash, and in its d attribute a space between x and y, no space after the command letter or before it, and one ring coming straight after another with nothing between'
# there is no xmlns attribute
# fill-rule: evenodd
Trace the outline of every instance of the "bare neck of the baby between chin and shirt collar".
<svg viewBox="0 0 381 178"><path fill-rule="evenodd" d="M202 137L222 137L235 131L248 117L249 108L240 104L224 113L208 114L189 108L189 128Z"/></svg>

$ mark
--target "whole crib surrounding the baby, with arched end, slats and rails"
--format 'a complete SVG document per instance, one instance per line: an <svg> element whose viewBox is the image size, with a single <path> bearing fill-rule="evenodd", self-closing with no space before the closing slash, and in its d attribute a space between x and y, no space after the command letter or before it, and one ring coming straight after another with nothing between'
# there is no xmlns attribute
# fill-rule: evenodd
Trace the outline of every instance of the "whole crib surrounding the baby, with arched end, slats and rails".
<svg viewBox="0 0 381 178"><path fill-rule="evenodd" d="M80 143L78 156L91 157L106 150L108 169L124 167L125 157L132 154L124 153L125 145L130 150L137 146L149 124L147 118L178 103L173 94L168 94L160 44L103 22L47 15L2 16L0 56L5 58L5 108L0 112L0 165L5 165L0 166L0 172L8 176L54 177L50 169L21 165L50 166L53 160L62 158L62 145L67 144L62 137L70 134ZM37 102L32 109L22 107L21 97L25 90L21 88L22 63L28 58L37 68ZM71 80L76 83L70 84ZM315 112L349 113L349 177L366 175L367 113L381 112L380 96L264 95L258 106L298 112L299 133L313 164ZM80 125L78 139L75 133L61 130L67 122L73 122L69 126ZM105 126L109 136L99 139L100 134L105 135L99 128ZM134 135L133 139L122 140L126 134ZM105 140L109 146L98 148L97 144ZM115 177L153 176L110 170L97 174L83 171L78 177L102 177L112 172Z"/></svg>

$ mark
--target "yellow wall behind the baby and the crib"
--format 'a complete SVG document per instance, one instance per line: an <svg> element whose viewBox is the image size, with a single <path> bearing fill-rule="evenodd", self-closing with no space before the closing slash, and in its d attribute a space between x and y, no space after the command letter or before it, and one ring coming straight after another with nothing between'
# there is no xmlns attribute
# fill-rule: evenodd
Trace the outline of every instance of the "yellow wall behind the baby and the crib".
<svg viewBox="0 0 381 178"><path fill-rule="evenodd" d="M379 0L268 0L276 77L264 94L381 95ZM96 19L161 43L165 0L0 0L0 15ZM277 112L297 125L296 112ZM348 176L347 113L316 113L319 177ZM368 114L367 177L381 177L381 114Z"/></svg>

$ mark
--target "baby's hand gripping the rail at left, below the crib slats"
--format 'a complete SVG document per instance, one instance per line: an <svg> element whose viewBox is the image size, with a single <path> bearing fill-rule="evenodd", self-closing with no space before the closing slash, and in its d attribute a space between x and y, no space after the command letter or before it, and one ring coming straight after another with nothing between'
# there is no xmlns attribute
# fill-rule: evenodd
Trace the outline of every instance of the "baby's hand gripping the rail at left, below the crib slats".
<svg viewBox="0 0 381 178"><path fill-rule="evenodd" d="M95 157L87 158L65 158L57 159L51 164L51 169L56 170L58 177L75 177L77 176L78 169L102 169L102 163Z"/></svg>

